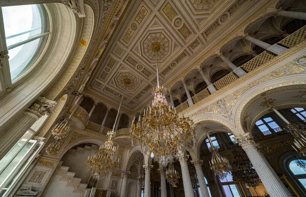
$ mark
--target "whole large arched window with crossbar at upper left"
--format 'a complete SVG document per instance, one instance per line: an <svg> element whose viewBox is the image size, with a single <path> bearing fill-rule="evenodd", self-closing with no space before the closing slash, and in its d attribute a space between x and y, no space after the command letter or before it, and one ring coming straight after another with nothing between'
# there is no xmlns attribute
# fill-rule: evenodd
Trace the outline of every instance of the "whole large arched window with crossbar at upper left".
<svg viewBox="0 0 306 197"><path fill-rule="evenodd" d="M11 80L15 81L37 59L48 35L41 5L2 7Z"/></svg>

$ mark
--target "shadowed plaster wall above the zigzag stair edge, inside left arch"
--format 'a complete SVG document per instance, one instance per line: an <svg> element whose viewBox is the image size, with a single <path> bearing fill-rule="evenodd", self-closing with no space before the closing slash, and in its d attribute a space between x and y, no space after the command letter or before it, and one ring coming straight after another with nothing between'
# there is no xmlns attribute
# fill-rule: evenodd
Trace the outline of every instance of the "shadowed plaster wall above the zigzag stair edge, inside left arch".
<svg viewBox="0 0 306 197"><path fill-rule="evenodd" d="M78 147L77 150L70 149L62 157L62 166L69 167L68 171L75 173L74 177L81 178L81 183L88 183L90 180L90 171L87 170L87 159L96 152L96 149L90 146L85 146L84 149Z"/></svg>

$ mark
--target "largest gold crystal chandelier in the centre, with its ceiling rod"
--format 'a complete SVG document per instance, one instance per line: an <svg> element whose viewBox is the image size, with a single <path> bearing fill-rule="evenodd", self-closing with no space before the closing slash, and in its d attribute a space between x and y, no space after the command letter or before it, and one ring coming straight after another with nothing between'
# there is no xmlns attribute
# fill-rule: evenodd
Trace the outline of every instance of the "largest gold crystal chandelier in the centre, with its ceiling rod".
<svg viewBox="0 0 306 197"><path fill-rule="evenodd" d="M144 152L151 152L155 160L162 166L167 166L173 161L176 153L186 148L187 144L195 138L193 121L189 117L179 117L174 106L167 103L166 88L159 85L159 72L157 53L160 52L161 44L154 42L151 45L152 52L156 56L157 87L154 89L154 100L149 108L144 110L142 121L140 117L137 123L131 126L132 146L140 143Z"/></svg>

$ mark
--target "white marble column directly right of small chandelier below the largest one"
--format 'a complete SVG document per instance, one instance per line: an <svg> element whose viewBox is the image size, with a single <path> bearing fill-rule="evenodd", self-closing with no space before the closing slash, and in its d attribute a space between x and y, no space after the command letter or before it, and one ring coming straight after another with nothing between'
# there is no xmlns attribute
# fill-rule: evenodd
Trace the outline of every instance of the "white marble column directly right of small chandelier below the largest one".
<svg viewBox="0 0 306 197"><path fill-rule="evenodd" d="M179 161L182 169L185 197L194 197L186 156L179 156Z"/></svg>

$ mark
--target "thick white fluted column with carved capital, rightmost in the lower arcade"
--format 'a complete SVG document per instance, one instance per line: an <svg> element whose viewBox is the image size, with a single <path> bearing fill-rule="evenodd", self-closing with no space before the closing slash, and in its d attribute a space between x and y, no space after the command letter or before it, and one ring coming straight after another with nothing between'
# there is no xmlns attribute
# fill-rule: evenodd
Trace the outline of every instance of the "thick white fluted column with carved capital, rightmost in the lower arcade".
<svg viewBox="0 0 306 197"><path fill-rule="evenodd" d="M291 196L281 179L276 175L275 171L268 161L260 155L255 146L253 138L249 133L245 133L234 137L245 151L252 165L254 166L259 178L267 189L271 197L289 197Z"/></svg>

